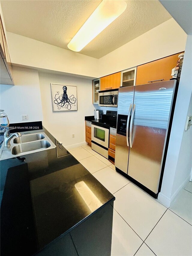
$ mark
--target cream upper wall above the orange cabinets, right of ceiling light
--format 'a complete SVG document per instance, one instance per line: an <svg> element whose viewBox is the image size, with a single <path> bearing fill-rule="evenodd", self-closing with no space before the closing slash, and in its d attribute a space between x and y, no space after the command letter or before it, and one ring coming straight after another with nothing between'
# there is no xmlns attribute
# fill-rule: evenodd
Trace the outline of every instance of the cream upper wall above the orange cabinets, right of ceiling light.
<svg viewBox="0 0 192 256"><path fill-rule="evenodd" d="M172 18L99 59L99 76L132 68L185 49L187 34Z"/></svg>

